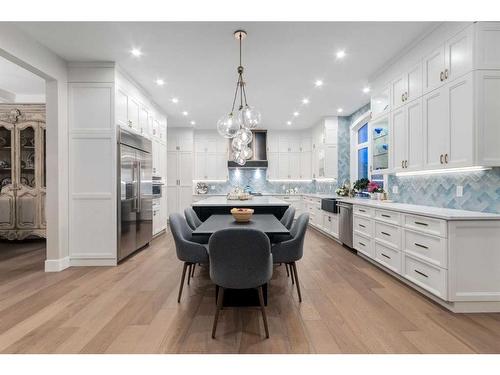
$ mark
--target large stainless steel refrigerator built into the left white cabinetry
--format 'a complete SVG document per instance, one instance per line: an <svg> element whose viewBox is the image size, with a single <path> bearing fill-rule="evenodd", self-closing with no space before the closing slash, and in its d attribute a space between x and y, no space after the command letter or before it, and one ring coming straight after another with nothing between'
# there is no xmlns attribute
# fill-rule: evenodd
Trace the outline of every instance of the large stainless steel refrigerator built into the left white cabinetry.
<svg viewBox="0 0 500 375"><path fill-rule="evenodd" d="M118 260L122 260L153 237L151 141L120 129L118 163Z"/></svg>

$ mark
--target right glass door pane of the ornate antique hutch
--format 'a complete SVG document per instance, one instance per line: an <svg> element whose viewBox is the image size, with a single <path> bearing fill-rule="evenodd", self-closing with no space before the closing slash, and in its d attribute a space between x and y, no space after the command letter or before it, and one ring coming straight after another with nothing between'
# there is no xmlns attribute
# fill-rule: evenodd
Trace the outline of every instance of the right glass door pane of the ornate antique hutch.
<svg viewBox="0 0 500 375"><path fill-rule="evenodd" d="M19 228L36 226L36 132L34 126L18 127L19 164L17 168L16 217Z"/></svg>

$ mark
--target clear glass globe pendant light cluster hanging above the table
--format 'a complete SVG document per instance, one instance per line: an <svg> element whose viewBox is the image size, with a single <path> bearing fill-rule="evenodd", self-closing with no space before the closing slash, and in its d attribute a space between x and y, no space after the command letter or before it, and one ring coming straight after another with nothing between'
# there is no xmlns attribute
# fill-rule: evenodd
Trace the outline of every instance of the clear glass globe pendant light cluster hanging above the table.
<svg viewBox="0 0 500 375"><path fill-rule="evenodd" d="M236 82L236 91L234 92L233 106L229 114L222 116L217 121L217 131L224 138L231 141L231 159L237 164L243 166L248 159L253 156L252 149L249 147L252 141L252 131L260 124L260 112L252 108L247 103L247 94L245 92L245 81L243 80L243 65L241 63L241 41L247 36L243 30L234 32L234 37L240 44L240 65L238 66L238 81ZM234 106L239 95L238 112L234 113Z"/></svg>

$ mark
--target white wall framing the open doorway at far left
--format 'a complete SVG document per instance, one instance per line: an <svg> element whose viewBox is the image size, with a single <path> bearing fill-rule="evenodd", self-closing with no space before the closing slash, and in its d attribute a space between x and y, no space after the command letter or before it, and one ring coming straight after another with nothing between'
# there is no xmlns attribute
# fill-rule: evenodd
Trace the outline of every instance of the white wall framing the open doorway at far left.
<svg viewBox="0 0 500 375"><path fill-rule="evenodd" d="M68 262L67 67L63 59L13 24L0 23L0 56L46 80L47 261L46 270Z"/></svg>

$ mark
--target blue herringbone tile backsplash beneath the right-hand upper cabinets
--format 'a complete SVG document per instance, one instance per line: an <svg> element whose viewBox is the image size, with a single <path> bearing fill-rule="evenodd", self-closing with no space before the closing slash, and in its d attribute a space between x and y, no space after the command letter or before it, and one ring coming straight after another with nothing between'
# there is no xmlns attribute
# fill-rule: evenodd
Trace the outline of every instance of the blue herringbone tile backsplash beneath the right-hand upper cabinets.
<svg viewBox="0 0 500 375"><path fill-rule="evenodd" d="M500 213L500 168L427 176L389 176L389 199L399 203ZM398 194L392 187L398 186ZM463 197L456 187L463 186Z"/></svg>

